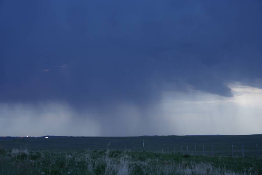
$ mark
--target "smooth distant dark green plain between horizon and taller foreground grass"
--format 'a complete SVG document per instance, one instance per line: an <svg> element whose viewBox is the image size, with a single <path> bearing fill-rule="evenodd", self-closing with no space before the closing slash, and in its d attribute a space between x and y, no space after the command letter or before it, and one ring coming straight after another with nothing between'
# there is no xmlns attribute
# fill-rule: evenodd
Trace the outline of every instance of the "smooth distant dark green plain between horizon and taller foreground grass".
<svg viewBox="0 0 262 175"><path fill-rule="evenodd" d="M231 155L231 145L233 145L234 156L242 155L242 144L244 145L245 156L255 156L255 144L258 144L258 156L262 157L262 135L213 135L213 136L138 136L138 137L23 137L11 138L10 140L0 140L0 148L12 150L27 149L32 151L49 152L68 152L82 150L131 150L141 151L145 139L145 151L174 153L187 153L194 155L195 145L197 146L197 155L203 154L203 145L205 154L211 155L212 145L214 145L214 155Z"/></svg>

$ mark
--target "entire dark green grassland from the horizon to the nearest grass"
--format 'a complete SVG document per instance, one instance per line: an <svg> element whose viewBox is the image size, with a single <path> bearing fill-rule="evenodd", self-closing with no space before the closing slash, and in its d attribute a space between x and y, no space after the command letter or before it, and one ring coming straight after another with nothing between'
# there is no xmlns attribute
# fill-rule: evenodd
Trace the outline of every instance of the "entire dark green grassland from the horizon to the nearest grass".
<svg viewBox="0 0 262 175"><path fill-rule="evenodd" d="M48 137L2 137L0 174L262 174L262 135Z"/></svg>

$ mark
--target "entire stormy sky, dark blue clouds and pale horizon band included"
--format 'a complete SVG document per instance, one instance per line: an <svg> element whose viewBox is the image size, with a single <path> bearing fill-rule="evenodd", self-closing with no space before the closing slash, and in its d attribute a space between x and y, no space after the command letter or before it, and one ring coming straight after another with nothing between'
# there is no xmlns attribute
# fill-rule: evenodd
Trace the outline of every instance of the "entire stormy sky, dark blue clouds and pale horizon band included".
<svg viewBox="0 0 262 175"><path fill-rule="evenodd" d="M0 24L0 135L262 132L259 0L2 0Z"/></svg>

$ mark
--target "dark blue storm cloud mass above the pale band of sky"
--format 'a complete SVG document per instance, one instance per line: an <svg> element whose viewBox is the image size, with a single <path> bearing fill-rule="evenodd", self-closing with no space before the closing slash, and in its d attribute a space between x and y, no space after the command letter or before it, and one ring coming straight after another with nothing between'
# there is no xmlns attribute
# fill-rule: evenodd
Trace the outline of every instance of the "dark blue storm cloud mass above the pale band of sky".
<svg viewBox="0 0 262 175"><path fill-rule="evenodd" d="M226 97L231 81L261 87L261 8L260 1L2 1L0 100L143 105L186 84Z"/></svg>

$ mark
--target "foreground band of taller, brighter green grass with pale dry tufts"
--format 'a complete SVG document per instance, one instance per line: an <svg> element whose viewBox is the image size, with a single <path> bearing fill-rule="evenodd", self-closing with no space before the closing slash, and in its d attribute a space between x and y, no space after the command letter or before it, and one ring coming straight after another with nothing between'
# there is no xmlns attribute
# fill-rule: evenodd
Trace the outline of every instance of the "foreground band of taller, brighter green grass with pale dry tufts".
<svg viewBox="0 0 262 175"><path fill-rule="evenodd" d="M0 174L262 174L262 161L127 150L50 153L0 149Z"/></svg>

